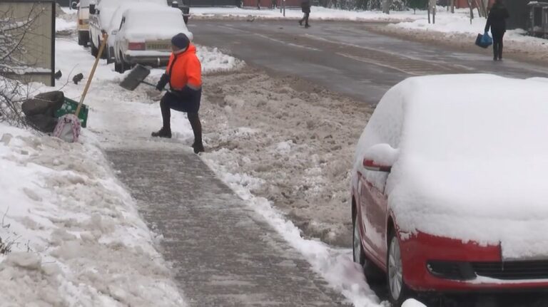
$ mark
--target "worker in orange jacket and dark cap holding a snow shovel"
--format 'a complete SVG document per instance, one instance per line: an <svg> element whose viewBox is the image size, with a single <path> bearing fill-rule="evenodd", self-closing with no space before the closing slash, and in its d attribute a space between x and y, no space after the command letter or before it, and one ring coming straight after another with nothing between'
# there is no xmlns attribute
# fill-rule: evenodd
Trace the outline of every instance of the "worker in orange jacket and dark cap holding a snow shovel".
<svg viewBox="0 0 548 307"><path fill-rule="evenodd" d="M163 126L153 137L171 137L171 109L185 112L194 132L193 150L203 152L202 124L198 117L202 97L202 67L196 56L196 46L183 33L171 38L171 57L166 73L156 85L163 90L169 83L168 92L160 101Z"/></svg>

